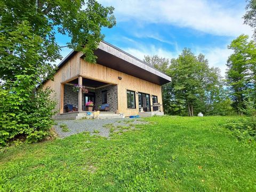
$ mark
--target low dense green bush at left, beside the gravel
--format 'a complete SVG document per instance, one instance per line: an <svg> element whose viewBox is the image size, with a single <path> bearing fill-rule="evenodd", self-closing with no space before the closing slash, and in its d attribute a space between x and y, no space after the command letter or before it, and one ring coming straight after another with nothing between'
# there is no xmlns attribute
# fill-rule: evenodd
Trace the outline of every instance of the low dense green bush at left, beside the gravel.
<svg viewBox="0 0 256 192"><path fill-rule="evenodd" d="M52 90L35 91L31 79L19 75L12 86L6 83L0 89L0 145L20 138L28 143L36 142L49 135L56 102L50 99Z"/></svg>

